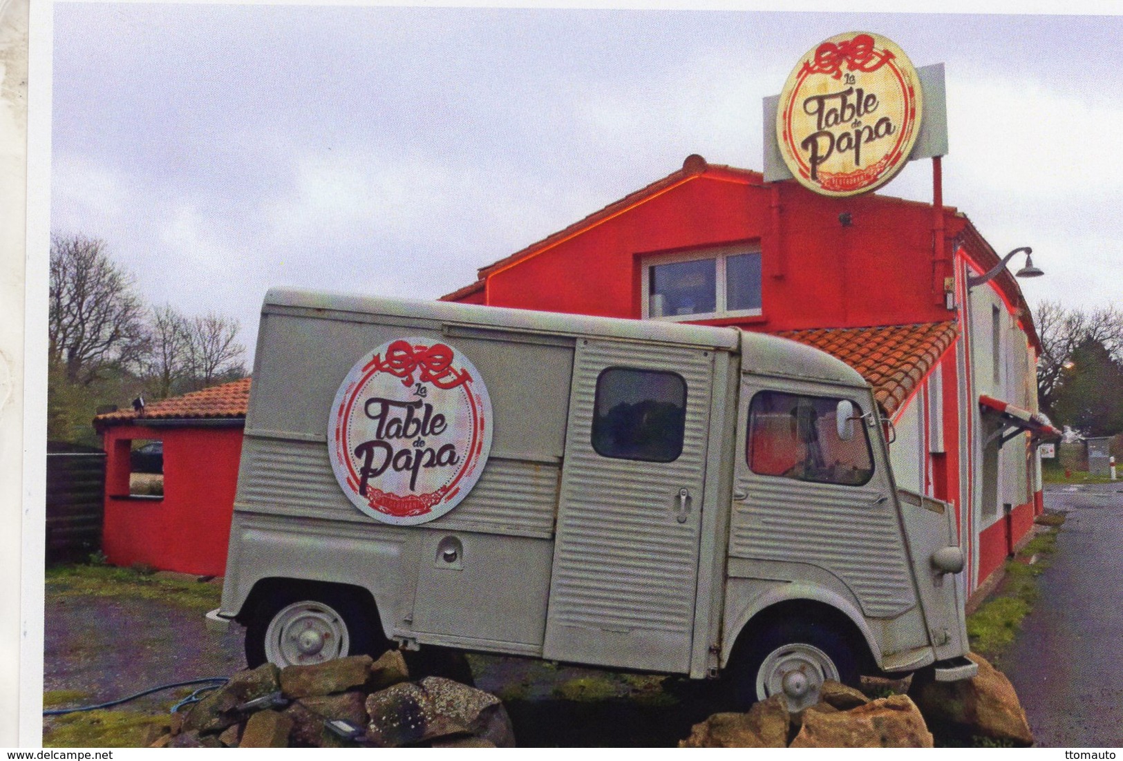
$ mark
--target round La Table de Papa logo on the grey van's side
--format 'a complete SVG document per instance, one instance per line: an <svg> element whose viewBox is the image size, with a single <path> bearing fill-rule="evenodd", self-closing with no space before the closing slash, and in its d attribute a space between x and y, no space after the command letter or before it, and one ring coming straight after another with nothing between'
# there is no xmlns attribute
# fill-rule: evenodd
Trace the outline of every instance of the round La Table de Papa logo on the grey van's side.
<svg viewBox="0 0 1123 761"><path fill-rule="evenodd" d="M492 407L478 370L455 347L399 338L365 355L344 378L328 421L339 486L384 523L440 517L480 479Z"/></svg>

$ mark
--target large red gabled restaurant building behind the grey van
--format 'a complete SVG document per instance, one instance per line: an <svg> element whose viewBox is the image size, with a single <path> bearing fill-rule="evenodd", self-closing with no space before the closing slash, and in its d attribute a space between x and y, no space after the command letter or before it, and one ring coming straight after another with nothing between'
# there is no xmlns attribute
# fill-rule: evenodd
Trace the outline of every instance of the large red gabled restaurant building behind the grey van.
<svg viewBox="0 0 1123 761"><path fill-rule="evenodd" d="M1040 342L999 257L950 207L686 158L682 169L480 269L444 296L737 326L849 363L896 427L898 486L955 505L975 590L1041 510Z"/></svg>

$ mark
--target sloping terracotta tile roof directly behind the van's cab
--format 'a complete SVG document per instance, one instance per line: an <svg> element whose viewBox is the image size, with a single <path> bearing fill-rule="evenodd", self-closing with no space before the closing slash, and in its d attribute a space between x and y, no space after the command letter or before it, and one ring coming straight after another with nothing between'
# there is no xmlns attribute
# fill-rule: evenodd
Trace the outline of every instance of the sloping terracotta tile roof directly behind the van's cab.
<svg viewBox="0 0 1123 761"><path fill-rule="evenodd" d="M926 322L778 334L822 349L858 370L892 415L956 340L957 329L955 322Z"/></svg>

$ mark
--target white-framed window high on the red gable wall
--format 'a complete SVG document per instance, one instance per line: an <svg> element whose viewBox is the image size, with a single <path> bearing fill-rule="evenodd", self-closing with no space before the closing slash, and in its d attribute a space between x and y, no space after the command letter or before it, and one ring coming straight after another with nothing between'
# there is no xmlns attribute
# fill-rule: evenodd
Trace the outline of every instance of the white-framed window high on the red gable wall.
<svg viewBox="0 0 1123 761"><path fill-rule="evenodd" d="M760 250L730 246L643 262L643 317L699 320L760 314Z"/></svg>

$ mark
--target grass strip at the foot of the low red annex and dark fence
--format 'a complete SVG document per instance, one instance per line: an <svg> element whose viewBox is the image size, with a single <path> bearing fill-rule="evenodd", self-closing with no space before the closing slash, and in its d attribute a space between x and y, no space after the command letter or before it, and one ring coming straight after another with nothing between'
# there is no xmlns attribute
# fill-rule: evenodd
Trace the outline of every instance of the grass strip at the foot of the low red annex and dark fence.
<svg viewBox="0 0 1123 761"><path fill-rule="evenodd" d="M47 593L57 597L141 597L203 613L218 607L222 596L218 584L157 577L150 568L54 566L45 581Z"/></svg>

